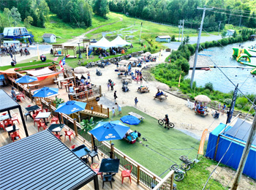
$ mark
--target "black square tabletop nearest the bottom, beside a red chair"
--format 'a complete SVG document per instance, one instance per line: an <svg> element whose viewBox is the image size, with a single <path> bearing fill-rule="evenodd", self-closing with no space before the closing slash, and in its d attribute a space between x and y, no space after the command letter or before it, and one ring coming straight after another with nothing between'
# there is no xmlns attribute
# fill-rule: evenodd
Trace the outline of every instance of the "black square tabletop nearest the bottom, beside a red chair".
<svg viewBox="0 0 256 190"><path fill-rule="evenodd" d="M118 173L120 159L102 159L99 167L99 172ZM115 181L112 178L113 181Z"/></svg>

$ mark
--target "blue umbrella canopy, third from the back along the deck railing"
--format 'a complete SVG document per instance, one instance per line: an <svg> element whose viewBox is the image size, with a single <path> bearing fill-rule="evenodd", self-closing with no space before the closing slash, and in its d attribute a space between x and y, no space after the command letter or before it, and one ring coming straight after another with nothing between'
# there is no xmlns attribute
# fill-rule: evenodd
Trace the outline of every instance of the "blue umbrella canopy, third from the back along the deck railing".
<svg viewBox="0 0 256 190"><path fill-rule="evenodd" d="M86 104L87 103L85 102L67 101L62 104L59 104L55 112L65 113L67 115L70 115L72 113L76 113L84 110L86 108Z"/></svg>

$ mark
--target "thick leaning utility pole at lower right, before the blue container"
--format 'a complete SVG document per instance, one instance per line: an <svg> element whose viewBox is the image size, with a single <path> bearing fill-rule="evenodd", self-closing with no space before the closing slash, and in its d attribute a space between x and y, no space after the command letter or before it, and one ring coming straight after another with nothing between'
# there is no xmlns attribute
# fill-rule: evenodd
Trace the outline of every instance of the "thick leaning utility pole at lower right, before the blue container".
<svg viewBox="0 0 256 190"><path fill-rule="evenodd" d="M256 110L256 106L254 108ZM253 142L253 140L255 138L255 134L256 134L256 116L253 119L252 129L249 132L249 137L248 137L248 140L247 140L246 145L244 147L244 151L243 151L240 163L238 165L238 169L236 170L236 176L235 176L235 180L233 182L231 190L236 190L238 188L238 183L239 183L239 180L241 178L242 172L244 170L244 165L245 165L247 156L249 154L249 150L250 150L250 148L252 146L252 142Z"/></svg>

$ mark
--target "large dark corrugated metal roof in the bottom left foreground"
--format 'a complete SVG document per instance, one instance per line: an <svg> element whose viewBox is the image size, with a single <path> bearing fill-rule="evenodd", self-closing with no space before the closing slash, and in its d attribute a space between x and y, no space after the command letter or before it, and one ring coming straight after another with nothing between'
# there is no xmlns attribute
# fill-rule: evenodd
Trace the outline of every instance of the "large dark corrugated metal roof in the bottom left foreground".
<svg viewBox="0 0 256 190"><path fill-rule="evenodd" d="M79 189L94 176L48 130L0 148L0 189Z"/></svg>

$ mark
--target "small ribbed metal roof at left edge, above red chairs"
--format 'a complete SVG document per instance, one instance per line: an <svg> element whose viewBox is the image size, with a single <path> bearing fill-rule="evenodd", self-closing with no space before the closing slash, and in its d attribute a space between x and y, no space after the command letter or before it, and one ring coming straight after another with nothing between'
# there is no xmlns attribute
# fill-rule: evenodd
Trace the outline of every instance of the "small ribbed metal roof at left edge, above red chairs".
<svg viewBox="0 0 256 190"><path fill-rule="evenodd" d="M0 90L0 113L7 110L18 108L18 104L11 96L9 96L4 90Z"/></svg>

